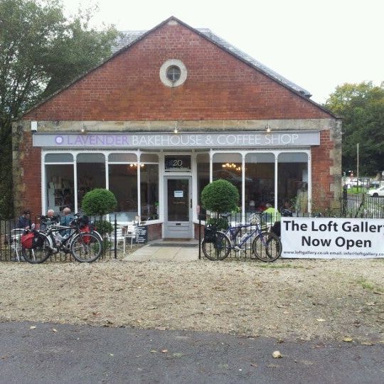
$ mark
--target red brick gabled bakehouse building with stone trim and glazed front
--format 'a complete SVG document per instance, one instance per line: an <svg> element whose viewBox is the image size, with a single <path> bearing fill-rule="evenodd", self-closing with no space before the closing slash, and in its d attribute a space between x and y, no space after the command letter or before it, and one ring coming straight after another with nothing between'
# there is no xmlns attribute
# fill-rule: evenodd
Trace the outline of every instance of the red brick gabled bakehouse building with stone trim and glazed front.
<svg viewBox="0 0 384 384"><path fill-rule="evenodd" d="M77 211L109 188L120 222L139 215L152 237L190 238L216 178L238 187L243 213L338 204L341 122L309 92L174 17L119 43L14 124L18 210Z"/></svg>

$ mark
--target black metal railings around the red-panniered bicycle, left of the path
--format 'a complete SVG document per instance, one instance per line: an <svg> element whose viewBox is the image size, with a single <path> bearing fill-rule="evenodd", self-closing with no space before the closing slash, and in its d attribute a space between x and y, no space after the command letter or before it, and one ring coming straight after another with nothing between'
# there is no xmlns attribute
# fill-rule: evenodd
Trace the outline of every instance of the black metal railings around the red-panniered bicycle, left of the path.
<svg viewBox="0 0 384 384"><path fill-rule="evenodd" d="M116 217L110 218L90 218L90 221L94 223L95 229L102 235L102 255L97 261L117 259L119 255L118 243L121 242L117 233L117 220ZM36 217L31 220L35 223L36 228L40 228L40 221ZM18 242L22 230L17 228L18 220L1 220L0 219L0 262L6 261L18 261L22 260L21 245ZM125 239L123 239L125 241ZM50 255L48 261L51 262L65 262L73 261L70 253L58 252Z"/></svg>

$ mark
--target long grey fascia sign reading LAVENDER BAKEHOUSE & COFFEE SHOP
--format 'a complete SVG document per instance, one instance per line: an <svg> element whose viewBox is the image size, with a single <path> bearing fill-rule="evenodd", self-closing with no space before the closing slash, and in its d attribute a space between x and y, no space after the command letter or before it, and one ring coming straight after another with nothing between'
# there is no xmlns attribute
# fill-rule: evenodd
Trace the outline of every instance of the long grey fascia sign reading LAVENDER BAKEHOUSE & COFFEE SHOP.
<svg viewBox="0 0 384 384"><path fill-rule="evenodd" d="M225 148L249 146L311 146L319 132L227 132L220 134L33 134L33 146L55 148Z"/></svg>

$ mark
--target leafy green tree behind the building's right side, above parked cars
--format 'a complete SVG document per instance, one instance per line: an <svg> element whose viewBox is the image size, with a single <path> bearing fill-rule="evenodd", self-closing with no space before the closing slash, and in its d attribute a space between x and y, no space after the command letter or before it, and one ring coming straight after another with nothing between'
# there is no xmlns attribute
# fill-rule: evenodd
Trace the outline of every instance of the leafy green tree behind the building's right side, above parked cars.
<svg viewBox="0 0 384 384"><path fill-rule="evenodd" d="M360 173L384 170L384 85L372 82L336 87L325 107L343 118L343 169L356 170L360 143Z"/></svg>

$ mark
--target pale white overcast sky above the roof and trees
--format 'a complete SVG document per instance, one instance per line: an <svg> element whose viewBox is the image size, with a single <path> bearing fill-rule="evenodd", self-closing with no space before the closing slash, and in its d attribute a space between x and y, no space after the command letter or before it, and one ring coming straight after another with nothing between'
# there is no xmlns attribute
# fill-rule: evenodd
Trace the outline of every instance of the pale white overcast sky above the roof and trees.
<svg viewBox="0 0 384 384"><path fill-rule="evenodd" d="M384 81L384 0L63 0L99 4L96 25L148 30L170 16L210 28L325 102L344 82Z"/></svg>

